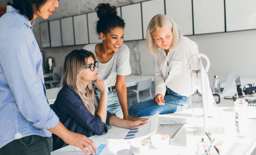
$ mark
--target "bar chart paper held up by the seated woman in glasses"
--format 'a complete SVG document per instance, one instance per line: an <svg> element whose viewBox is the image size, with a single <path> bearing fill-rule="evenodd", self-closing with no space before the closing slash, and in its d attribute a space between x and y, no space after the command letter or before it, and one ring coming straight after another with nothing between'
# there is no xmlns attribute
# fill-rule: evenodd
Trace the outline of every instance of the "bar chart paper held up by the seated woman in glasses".
<svg viewBox="0 0 256 155"><path fill-rule="evenodd" d="M150 137L151 135L157 132L158 115L159 112L151 116L151 118L147 120L146 124L142 124L133 129L129 129L128 131L116 134L116 136L110 138L109 141L129 142L133 140L142 140L147 137Z"/></svg>

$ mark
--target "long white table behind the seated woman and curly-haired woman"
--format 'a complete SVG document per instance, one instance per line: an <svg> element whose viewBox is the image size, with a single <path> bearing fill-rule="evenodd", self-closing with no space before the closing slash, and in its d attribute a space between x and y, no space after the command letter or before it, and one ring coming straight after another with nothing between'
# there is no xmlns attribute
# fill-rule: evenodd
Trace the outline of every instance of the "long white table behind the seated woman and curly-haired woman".
<svg viewBox="0 0 256 155"><path fill-rule="evenodd" d="M148 75L128 75L125 77L125 83L127 87L131 87L131 86L137 85L139 81L147 80L149 78L151 78L152 81L154 80L153 76L148 76ZM60 89L61 88L46 89L46 96L50 105L53 104L54 101L56 100Z"/></svg>

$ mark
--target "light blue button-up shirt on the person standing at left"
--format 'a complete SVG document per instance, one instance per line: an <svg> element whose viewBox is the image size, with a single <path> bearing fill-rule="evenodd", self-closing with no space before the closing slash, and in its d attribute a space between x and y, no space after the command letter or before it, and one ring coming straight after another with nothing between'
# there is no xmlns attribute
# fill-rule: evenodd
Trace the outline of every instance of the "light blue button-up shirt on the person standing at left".
<svg viewBox="0 0 256 155"><path fill-rule="evenodd" d="M0 18L0 148L29 135L50 137L59 123L45 95L42 56L26 16Z"/></svg>

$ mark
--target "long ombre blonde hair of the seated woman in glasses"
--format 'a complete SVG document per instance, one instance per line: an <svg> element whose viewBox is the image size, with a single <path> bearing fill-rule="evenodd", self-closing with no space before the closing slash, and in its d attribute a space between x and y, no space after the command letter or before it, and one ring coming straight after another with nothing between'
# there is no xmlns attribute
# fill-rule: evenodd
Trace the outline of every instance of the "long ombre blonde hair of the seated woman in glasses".
<svg viewBox="0 0 256 155"><path fill-rule="evenodd" d="M81 76L84 73L84 67L88 66L87 59L90 56L96 61L95 55L87 50L76 49L70 52L65 59L61 83L63 86L67 85L74 89L83 101L84 106L86 106L88 111L94 115L98 106L94 88L91 81L86 88L84 88L81 79Z"/></svg>

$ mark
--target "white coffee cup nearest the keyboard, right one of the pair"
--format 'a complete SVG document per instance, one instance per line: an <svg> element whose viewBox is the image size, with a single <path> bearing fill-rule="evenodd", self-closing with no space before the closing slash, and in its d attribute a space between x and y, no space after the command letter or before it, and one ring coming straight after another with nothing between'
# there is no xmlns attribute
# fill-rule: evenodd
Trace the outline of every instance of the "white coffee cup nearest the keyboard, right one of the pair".
<svg viewBox="0 0 256 155"><path fill-rule="evenodd" d="M148 142L150 146L154 146L157 149L162 149L169 144L169 140L169 135L154 134L151 135L150 140L148 140Z"/></svg>

